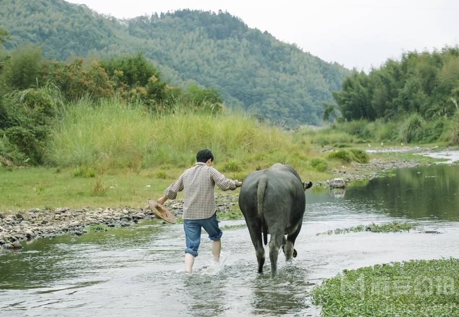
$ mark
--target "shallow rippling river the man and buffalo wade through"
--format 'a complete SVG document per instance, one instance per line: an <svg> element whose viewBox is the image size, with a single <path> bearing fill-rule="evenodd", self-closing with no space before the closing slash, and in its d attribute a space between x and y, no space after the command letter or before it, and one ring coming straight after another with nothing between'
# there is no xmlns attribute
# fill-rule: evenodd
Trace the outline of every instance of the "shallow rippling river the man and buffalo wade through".
<svg viewBox="0 0 459 317"><path fill-rule="evenodd" d="M409 220L408 233L316 235L329 229ZM243 224L224 221L221 226ZM439 234L425 233L435 230ZM247 228L225 230L222 261L203 234L193 274L184 274L182 225L144 221L131 228L38 239L0 251L1 316L318 315L314 285L343 269L408 259L459 257L459 166L395 171L345 192L307 191L298 257L279 256L270 278ZM266 247L266 251L268 249ZM267 254L268 255L268 254Z"/></svg>

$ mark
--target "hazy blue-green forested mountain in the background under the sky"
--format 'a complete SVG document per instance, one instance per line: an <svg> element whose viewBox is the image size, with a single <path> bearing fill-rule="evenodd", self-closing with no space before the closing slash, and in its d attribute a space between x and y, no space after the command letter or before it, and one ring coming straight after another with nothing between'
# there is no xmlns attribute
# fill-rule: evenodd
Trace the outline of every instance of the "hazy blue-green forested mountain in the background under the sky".
<svg viewBox="0 0 459 317"><path fill-rule="evenodd" d="M320 124L349 71L250 29L226 12L182 10L119 20L62 0L1 0L0 28L42 45L45 58L107 58L143 52L172 85L217 89L225 104L295 127Z"/></svg>

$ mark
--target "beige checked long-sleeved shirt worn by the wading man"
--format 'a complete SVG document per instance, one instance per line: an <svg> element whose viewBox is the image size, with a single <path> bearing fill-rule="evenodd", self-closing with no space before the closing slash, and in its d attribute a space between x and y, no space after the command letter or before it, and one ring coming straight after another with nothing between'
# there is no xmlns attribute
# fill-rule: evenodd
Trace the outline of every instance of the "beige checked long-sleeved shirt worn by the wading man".
<svg viewBox="0 0 459 317"><path fill-rule="evenodd" d="M185 190L183 215L186 220L207 219L217 211L214 198L215 184L221 190L236 189L237 180L227 179L212 166L197 162L185 170L179 179L164 191L168 199L175 199L177 192Z"/></svg>

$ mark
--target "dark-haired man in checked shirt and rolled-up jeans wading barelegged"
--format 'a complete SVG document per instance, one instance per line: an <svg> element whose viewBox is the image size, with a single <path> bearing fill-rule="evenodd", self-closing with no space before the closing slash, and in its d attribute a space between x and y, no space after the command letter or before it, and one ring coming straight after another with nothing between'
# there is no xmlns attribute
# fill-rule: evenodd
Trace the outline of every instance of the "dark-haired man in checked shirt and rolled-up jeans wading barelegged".
<svg viewBox="0 0 459 317"><path fill-rule="evenodd" d="M221 190L234 190L241 187L242 182L227 179L223 174L212 167L214 156L205 149L196 155L196 163L185 170L179 179L165 190L165 196L158 199L164 204L168 199L175 199L177 192L184 190L183 228L185 230L185 270L191 273L194 258L201 242L201 228L209 233L212 240L212 255L214 261L220 260L222 231L218 227L216 216L217 205L214 198L215 184Z"/></svg>

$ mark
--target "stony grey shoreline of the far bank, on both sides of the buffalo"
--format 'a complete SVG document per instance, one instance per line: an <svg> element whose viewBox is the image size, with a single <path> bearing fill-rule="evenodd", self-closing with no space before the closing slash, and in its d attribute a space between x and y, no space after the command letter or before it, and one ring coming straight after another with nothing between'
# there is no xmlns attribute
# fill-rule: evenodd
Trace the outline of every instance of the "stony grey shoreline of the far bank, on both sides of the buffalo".
<svg viewBox="0 0 459 317"><path fill-rule="evenodd" d="M432 149L413 149L417 154ZM367 164L351 163L334 169L330 175L343 178L346 182L370 180L385 176L396 168L415 167L437 161L413 152L383 152L373 154ZM309 180L307 180L309 181ZM314 186L326 186L329 180L314 182ZM220 219L241 218L237 209L237 194L217 193L218 217ZM166 202L166 207L179 220L182 214L183 199ZM21 248L20 241L40 237L54 237L61 234L82 235L90 230L127 227L148 218L154 218L148 206L106 207L106 208L31 208L29 210L10 210L0 213L0 246L5 249Z"/></svg>

